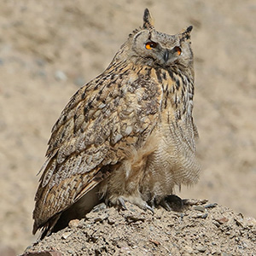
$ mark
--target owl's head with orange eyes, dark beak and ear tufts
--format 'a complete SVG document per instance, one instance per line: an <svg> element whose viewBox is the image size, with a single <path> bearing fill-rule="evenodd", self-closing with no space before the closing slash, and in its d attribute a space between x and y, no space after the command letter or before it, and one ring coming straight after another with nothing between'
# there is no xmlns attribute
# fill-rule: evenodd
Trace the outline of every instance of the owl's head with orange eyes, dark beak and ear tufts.
<svg viewBox="0 0 256 256"><path fill-rule="evenodd" d="M175 35L158 32L148 9L143 15L143 27L134 31L123 45L125 58L152 67L193 68L193 53L190 47L192 26Z"/></svg>

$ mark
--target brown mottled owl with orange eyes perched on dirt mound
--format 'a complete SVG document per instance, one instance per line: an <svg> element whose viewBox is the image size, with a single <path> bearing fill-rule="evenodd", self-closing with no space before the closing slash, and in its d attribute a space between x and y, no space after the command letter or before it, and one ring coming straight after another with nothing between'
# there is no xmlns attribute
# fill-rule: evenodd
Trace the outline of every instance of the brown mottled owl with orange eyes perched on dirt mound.
<svg viewBox="0 0 256 256"><path fill-rule="evenodd" d="M33 234L49 236L102 201L168 209L175 186L198 180L191 30L158 32L145 9L143 26L67 103L41 169Z"/></svg>

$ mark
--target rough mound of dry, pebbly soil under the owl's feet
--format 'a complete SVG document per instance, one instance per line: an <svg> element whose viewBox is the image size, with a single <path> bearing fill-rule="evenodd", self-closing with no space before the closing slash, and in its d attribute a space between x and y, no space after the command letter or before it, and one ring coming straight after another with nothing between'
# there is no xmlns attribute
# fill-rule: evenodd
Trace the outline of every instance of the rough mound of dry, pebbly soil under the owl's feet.
<svg viewBox="0 0 256 256"><path fill-rule="evenodd" d="M227 207L187 201L181 212L154 214L127 207L102 207L72 220L23 255L256 255L256 220Z"/></svg>

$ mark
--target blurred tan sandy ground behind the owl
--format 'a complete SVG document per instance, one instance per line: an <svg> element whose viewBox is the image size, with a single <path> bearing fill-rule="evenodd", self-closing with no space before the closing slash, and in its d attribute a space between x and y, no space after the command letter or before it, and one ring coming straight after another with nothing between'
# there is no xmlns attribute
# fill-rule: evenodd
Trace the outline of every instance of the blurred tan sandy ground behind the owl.
<svg viewBox="0 0 256 256"><path fill-rule="evenodd" d="M93 3L92 3L93 2ZM22 253L50 129L79 86L101 73L148 7L158 30L192 24L201 180L177 194L256 217L256 3L0 3L0 244Z"/></svg>

